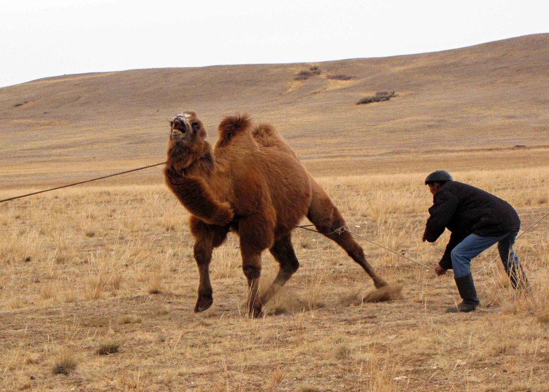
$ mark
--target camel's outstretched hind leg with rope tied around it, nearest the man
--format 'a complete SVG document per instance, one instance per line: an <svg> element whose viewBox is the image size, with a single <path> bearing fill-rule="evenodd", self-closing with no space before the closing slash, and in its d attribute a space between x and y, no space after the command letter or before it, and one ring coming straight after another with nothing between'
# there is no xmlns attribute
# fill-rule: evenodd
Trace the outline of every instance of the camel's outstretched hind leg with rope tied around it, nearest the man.
<svg viewBox="0 0 549 392"><path fill-rule="evenodd" d="M324 236L338 243L345 249L347 254L355 260L372 278L374 286L383 287L387 285L379 275L373 270L372 266L366 261L366 256L360 245L352 238L349 231L336 231L339 228L346 227L345 219L341 216L337 207L334 206L326 192L315 181L312 182L312 200L307 213L307 218L316 229Z"/></svg>

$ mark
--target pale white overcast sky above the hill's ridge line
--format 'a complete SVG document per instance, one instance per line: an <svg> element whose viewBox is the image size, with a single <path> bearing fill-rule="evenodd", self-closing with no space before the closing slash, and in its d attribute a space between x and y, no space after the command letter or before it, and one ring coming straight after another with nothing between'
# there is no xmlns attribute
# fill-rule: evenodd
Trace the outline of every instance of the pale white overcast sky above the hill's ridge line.
<svg viewBox="0 0 549 392"><path fill-rule="evenodd" d="M0 87L71 73L435 52L546 32L547 0L4 0Z"/></svg>

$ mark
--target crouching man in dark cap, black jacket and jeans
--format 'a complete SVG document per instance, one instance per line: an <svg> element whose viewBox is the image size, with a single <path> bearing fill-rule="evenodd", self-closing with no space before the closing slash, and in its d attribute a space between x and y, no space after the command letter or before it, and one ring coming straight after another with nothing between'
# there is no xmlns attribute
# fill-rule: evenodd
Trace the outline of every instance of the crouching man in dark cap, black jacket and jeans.
<svg viewBox="0 0 549 392"><path fill-rule="evenodd" d="M446 312L473 311L480 305L470 270L471 259L496 242L513 287L528 287L519 258L512 248L520 229L520 219L511 204L474 186L453 181L450 173L444 170L429 174L425 185L433 194L433 206L429 208L423 241L435 242L445 228L452 232L435 272L440 276L453 269L463 301L450 306Z"/></svg>

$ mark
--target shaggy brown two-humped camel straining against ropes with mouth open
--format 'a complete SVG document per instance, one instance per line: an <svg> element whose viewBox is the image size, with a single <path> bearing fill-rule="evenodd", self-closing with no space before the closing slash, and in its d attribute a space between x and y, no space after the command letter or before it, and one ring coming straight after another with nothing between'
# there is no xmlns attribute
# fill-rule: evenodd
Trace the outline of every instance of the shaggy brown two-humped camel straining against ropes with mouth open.
<svg viewBox="0 0 549 392"><path fill-rule="evenodd" d="M351 234L338 230L345 227L345 220L274 127L261 124L253 128L248 115L227 116L219 124L219 139L212 149L194 111L184 111L170 124L164 176L168 188L191 213L199 271L195 312L213 303L209 275L212 250L234 231L239 236L242 268L248 279L248 313L261 316L263 305L299 268L291 237L305 216L362 266L376 288L388 287ZM261 253L265 249L279 263L279 271L259 294ZM390 298L385 293L378 299Z"/></svg>

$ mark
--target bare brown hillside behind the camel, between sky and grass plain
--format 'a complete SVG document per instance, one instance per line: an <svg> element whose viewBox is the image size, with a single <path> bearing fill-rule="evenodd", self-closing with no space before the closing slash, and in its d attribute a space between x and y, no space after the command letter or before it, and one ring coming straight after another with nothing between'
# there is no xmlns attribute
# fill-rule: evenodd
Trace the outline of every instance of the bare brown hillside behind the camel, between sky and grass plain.
<svg viewBox="0 0 549 392"><path fill-rule="evenodd" d="M234 112L272 123L315 175L544 166L547 64L540 34L388 58L38 79L0 88L0 173L5 186L29 187L162 162L168 122L183 109L212 139ZM311 67L320 75L295 79ZM396 96L356 105L380 90Z"/></svg>

